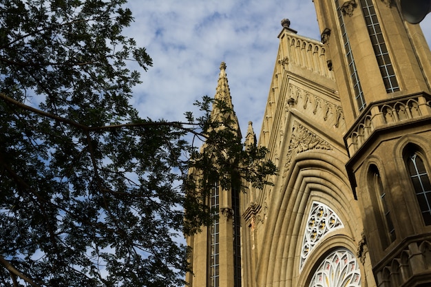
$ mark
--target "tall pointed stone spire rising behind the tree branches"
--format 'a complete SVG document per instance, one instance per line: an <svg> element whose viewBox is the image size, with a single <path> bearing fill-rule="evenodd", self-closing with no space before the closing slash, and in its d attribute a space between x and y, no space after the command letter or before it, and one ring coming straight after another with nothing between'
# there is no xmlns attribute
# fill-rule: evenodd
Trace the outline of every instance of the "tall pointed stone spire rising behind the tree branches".
<svg viewBox="0 0 431 287"><path fill-rule="evenodd" d="M231 91L229 89L229 83L227 81L226 74L226 63L222 62L220 64L220 75L218 76L217 87L215 88L215 96L216 100L222 100L226 103L227 107L231 109L229 116L231 120L233 120L233 128L235 128L238 132L238 136L241 136L240 126L238 124L238 118L235 115L235 111L233 111L232 97ZM211 111L211 116L214 118L219 118L221 116L221 111L213 105L213 111Z"/></svg>

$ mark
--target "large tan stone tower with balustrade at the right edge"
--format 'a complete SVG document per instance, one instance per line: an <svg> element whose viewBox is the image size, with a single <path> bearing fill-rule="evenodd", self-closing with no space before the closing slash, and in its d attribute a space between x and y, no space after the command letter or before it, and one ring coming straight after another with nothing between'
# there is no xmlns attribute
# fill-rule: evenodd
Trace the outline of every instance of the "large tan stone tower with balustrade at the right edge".
<svg viewBox="0 0 431 287"><path fill-rule="evenodd" d="M431 55L399 1L315 0L378 286L431 286Z"/></svg>

